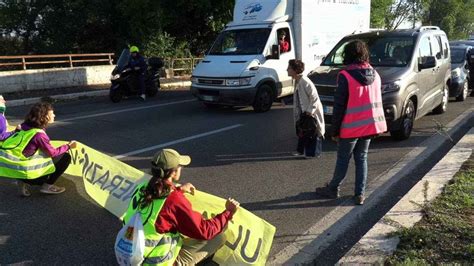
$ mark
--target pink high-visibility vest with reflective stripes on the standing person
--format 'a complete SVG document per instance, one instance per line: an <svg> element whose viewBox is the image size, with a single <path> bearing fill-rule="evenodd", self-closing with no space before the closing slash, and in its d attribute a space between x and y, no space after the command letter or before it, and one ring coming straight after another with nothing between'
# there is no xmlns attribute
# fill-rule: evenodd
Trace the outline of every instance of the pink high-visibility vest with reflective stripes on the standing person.
<svg viewBox="0 0 474 266"><path fill-rule="evenodd" d="M362 85L346 70L339 72L339 75L344 75L349 87L349 99L339 137L361 138L387 131L379 74L375 72L375 81L370 85Z"/></svg>

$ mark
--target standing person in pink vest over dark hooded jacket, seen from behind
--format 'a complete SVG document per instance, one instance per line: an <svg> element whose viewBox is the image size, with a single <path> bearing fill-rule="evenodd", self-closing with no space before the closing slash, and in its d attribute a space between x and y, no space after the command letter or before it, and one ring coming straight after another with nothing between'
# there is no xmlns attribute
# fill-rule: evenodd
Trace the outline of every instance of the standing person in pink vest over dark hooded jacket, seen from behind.
<svg viewBox="0 0 474 266"><path fill-rule="evenodd" d="M354 155L356 178L354 201L364 204L367 181L367 153L372 137L387 131L382 105L381 81L369 64L367 45L355 40L344 47L344 65L338 75L334 95L332 138L338 143L334 176L316 194L327 198L339 197L349 161Z"/></svg>

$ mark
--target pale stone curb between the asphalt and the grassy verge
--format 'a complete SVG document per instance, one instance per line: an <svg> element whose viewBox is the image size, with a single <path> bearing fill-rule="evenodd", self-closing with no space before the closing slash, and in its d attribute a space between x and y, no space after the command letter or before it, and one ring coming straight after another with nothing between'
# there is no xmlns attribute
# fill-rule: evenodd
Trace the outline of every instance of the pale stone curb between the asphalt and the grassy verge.
<svg viewBox="0 0 474 266"><path fill-rule="evenodd" d="M452 180L474 147L472 128L337 264L383 265L393 254L399 238L390 236L411 228L423 218L423 206L434 200Z"/></svg>

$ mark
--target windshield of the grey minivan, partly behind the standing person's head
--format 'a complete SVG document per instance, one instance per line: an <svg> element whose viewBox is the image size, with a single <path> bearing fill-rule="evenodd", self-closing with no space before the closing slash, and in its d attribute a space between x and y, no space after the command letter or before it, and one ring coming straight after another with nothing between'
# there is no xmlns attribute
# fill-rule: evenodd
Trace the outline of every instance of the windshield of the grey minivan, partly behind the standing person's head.
<svg viewBox="0 0 474 266"><path fill-rule="evenodd" d="M360 38L369 46L370 64L372 66L404 67L411 61L415 37L411 36L370 36ZM344 47L354 39L344 39L329 53L323 66L343 65Z"/></svg>

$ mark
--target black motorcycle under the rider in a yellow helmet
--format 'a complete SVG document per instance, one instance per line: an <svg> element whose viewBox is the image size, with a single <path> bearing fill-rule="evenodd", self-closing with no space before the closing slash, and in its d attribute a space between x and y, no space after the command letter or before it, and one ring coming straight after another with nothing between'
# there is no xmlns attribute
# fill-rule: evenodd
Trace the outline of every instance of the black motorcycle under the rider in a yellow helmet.
<svg viewBox="0 0 474 266"><path fill-rule="evenodd" d="M127 67L130 57L130 50L123 49L117 65L112 71L109 97L114 103L120 102L123 97L139 96L141 93L138 80L139 72ZM163 60L158 57L150 57L145 61L148 66L145 73L145 94L147 97L153 97L160 88L160 68L163 67Z"/></svg>

